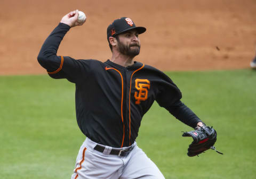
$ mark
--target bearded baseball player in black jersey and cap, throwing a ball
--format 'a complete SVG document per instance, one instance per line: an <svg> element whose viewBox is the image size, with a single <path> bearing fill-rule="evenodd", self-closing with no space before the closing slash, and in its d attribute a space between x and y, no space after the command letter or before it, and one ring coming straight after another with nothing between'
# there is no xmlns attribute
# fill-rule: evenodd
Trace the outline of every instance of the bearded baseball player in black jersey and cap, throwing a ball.
<svg viewBox="0 0 256 179"><path fill-rule="evenodd" d="M135 141L143 115L156 100L191 127L203 126L202 121L181 102L179 88L167 75L133 60L146 28L137 27L130 18L108 26L112 57L106 62L57 56L70 28L83 24L77 16L77 10L63 16L37 57L51 78L76 85L76 118L86 139L71 178L164 178Z"/></svg>

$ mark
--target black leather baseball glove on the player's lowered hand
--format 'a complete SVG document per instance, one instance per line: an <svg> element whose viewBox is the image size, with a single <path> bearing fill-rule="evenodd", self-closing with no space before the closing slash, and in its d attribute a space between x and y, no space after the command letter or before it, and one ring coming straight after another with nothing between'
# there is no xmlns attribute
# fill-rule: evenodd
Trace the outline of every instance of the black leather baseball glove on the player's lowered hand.
<svg viewBox="0 0 256 179"><path fill-rule="evenodd" d="M196 127L195 131L190 132L184 132L182 134L183 137L192 137L193 142L188 147L188 156L194 157L198 156L202 152L208 150L208 149L215 149L213 146L214 143L217 140L217 132L209 126L199 126ZM217 151L219 154L222 154L221 152Z"/></svg>

